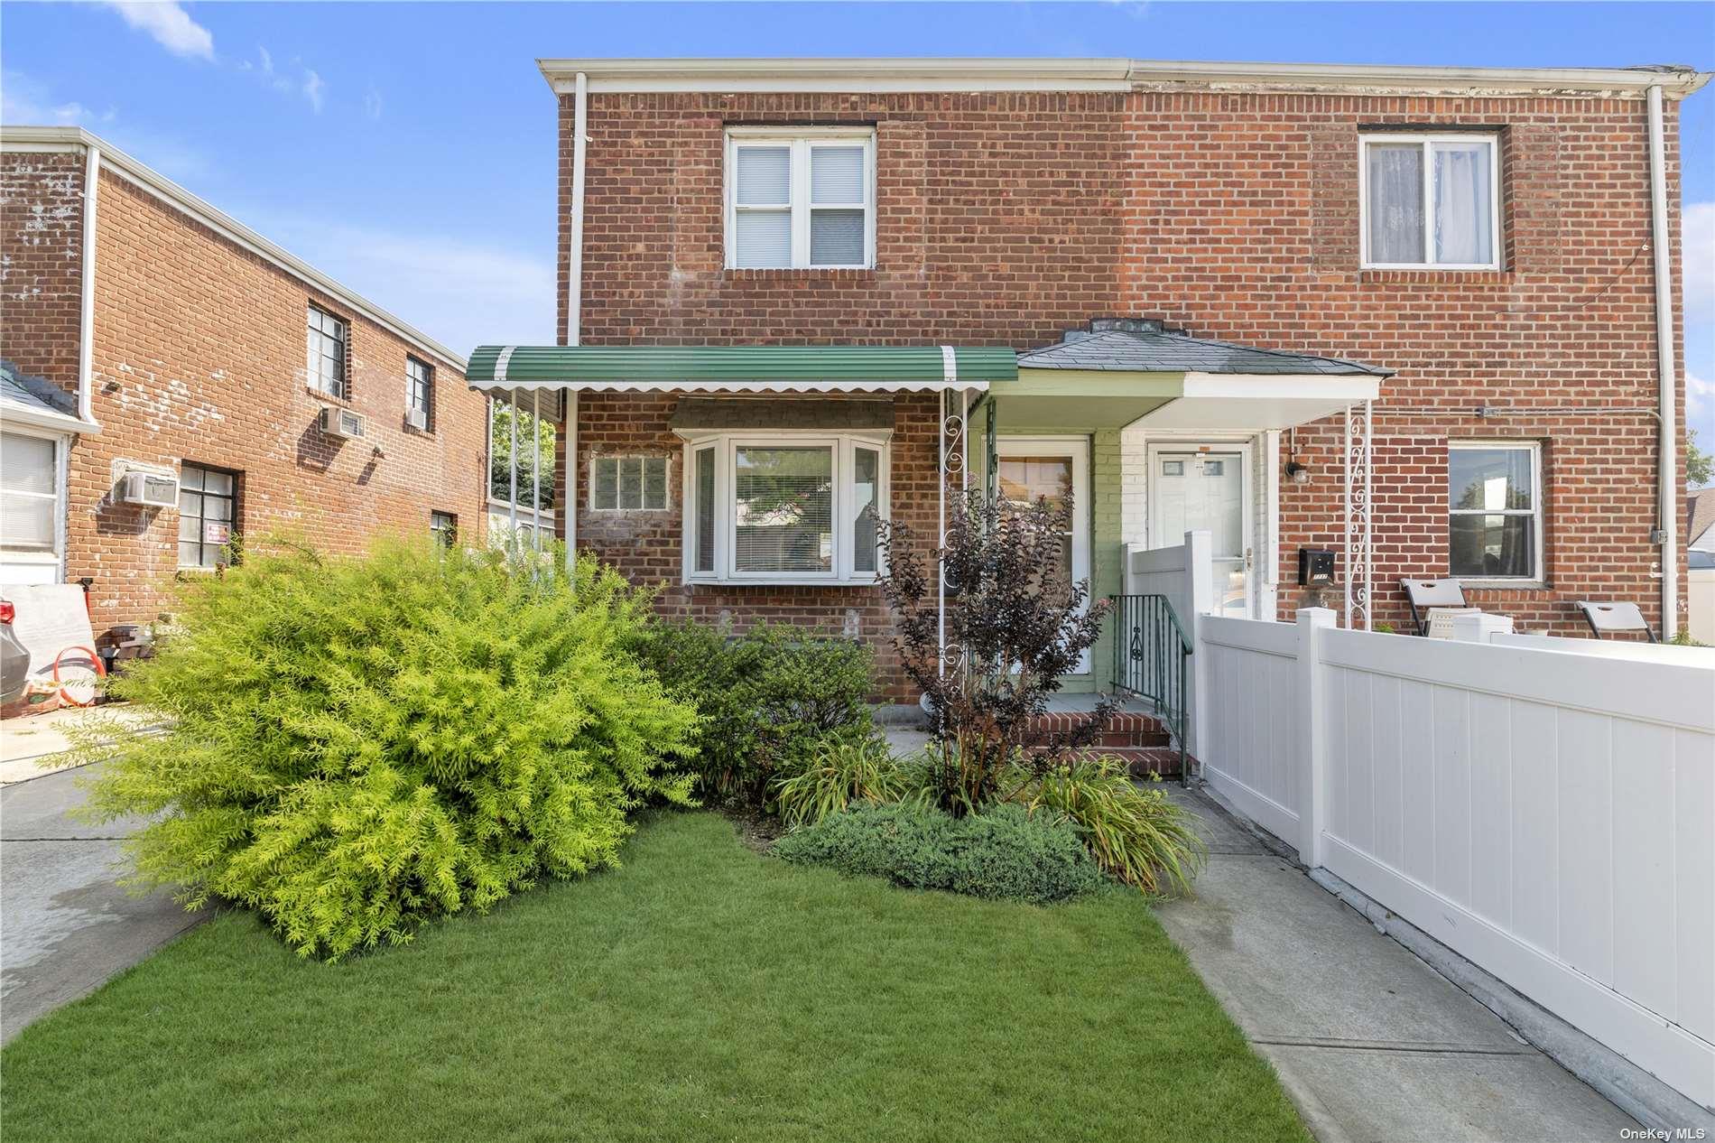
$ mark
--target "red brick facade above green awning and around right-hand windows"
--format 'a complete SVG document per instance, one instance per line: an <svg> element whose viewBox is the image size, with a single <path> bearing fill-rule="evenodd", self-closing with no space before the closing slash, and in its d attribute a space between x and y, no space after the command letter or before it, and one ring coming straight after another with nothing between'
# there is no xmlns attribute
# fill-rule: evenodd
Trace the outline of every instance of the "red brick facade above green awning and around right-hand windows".
<svg viewBox="0 0 1715 1143"><path fill-rule="evenodd" d="M566 96L563 319L571 113ZM1667 113L1677 299L1677 106ZM722 269L722 132L748 124L875 124L873 271ZM1501 271L1360 269L1358 132L1415 125L1501 132ZM1660 621L1655 420L1640 412L1657 403L1641 100L595 94L588 134L588 343L1029 348L1092 316L1140 314L1387 366L1377 584L1446 572L1449 438L1538 439L1549 584L1471 597L1569 633L1571 601L1588 596ZM1513 412L1478 419L1480 403ZM1300 544L1339 547L1338 432L1331 420L1298 434L1315 475L1283 484L1283 568ZM1297 602L1281 592L1283 611ZM1396 587L1375 614L1403 621Z"/></svg>

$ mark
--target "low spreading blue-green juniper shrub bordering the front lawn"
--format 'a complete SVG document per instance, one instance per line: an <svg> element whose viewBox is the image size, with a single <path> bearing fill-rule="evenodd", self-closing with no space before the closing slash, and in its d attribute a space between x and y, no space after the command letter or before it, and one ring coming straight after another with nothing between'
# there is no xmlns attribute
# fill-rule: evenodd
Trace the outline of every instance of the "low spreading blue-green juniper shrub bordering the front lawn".
<svg viewBox="0 0 1715 1143"><path fill-rule="evenodd" d="M773 853L801 865L887 877L972 898L1065 901L1104 884L1077 831L1055 813L991 805L952 817L924 805L854 805L787 834Z"/></svg>

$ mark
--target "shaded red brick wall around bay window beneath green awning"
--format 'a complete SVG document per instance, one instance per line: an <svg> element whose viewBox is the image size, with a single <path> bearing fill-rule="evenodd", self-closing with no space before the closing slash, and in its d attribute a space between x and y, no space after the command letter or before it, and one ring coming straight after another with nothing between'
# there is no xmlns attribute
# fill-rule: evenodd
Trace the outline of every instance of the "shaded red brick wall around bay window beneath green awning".
<svg viewBox="0 0 1715 1143"><path fill-rule="evenodd" d="M938 515L935 467L936 398L906 393L894 398L890 469L892 518L933 547ZM683 582L684 448L667 427L677 396L672 393L583 393L578 398L578 547L614 565L635 584L659 584L665 614L705 623L731 623L734 630L767 620L792 623L823 635L856 628L876 652L883 697L912 695L892 647L892 623L878 587L729 587ZM564 470L566 436L557 438ZM667 457L665 511L592 511L590 460L595 457Z"/></svg>

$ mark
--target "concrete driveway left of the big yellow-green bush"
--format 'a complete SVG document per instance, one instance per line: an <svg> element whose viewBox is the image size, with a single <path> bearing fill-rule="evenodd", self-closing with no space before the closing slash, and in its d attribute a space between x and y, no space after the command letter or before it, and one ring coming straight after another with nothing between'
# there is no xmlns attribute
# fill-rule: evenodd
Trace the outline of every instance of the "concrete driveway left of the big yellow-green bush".
<svg viewBox="0 0 1715 1143"><path fill-rule="evenodd" d="M87 995L202 920L168 892L129 896L120 844L141 819L84 826L79 777L99 762L0 789L0 1043Z"/></svg>

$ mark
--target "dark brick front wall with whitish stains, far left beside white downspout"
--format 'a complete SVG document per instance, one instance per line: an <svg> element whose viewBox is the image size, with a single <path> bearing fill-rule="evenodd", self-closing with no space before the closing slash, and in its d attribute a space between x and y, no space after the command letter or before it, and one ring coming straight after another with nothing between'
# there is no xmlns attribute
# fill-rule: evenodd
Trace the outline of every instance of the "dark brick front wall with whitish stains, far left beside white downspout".
<svg viewBox="0 0 1715 1143"><path fill-rule="evenodd" d="M0 154L0 357L77 393L84 156Z"/></svg>

